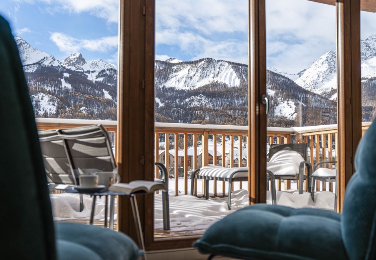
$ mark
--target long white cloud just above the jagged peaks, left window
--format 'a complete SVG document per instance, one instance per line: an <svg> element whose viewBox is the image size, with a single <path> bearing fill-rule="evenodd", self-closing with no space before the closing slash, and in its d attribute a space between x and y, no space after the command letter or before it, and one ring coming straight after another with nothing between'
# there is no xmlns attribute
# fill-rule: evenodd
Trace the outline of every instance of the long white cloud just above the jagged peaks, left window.
<svg viewBox="0 0 376 260"><path fill-rule="evenodd" d="M58 46L61 52L68 54L79 52L81 49L107 52L118 47L118 36L107 36L99 39L77 39L60 32L52 32L50 34L50 40Z"/></svg>

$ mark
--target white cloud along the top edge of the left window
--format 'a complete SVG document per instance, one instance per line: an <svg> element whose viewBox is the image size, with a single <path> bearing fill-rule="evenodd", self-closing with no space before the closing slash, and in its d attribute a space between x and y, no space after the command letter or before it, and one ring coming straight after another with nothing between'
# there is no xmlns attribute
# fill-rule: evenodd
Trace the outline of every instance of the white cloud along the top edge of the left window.
<svg viewBox="0 0 376 260"><path fill-rule="evenodd" d="M50 13L68 11L80 14L89 12L91 15L103 18L109 23L118 23L119 0L15 0L26 3L46 3L50 7L46 11Z"/></svg>

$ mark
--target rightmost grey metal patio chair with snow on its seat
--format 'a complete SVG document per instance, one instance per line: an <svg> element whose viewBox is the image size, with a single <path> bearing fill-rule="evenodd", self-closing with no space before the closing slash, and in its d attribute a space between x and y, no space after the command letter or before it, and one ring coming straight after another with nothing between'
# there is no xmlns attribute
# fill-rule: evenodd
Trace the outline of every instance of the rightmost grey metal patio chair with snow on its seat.
<svg viewBox="0 0 376 260"><path fill-rule="evenodd" d="M328 162L318 162L315 163L312 169L311 174L311 196L312 200L315 200L315 180L318 181L327 181L327 182L334 182L335 181L335 192L334 192L334 209L337 209L337 170L336 169L329 169L320 167L317 169L319 165L329 164L329 163L337 163L337 161L328 161Z"/></svg>

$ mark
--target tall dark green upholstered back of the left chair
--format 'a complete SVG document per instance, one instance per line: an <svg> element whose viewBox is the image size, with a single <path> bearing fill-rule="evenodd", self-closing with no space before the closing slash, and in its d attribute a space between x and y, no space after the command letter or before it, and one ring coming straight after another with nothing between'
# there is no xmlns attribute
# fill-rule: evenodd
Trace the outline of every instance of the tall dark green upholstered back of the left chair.
<svg viewBox="0 0 376 260"><path fill-rule="evenodd" d="M55 259L47 180L17 45L0 16L0 252L2 259Z"/></svg>

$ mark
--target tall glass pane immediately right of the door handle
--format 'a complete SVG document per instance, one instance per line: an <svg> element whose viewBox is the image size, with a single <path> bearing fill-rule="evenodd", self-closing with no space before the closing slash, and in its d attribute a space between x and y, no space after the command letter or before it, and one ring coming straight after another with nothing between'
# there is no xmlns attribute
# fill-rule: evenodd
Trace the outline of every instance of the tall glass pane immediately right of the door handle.
<svg viewBox="0 0 376 260"><path fill-rule="evenodd" d="M267 170L276 179L278 205L334 210L336 164L315 168L313 175L332 177L326 179L330 182L315 178L311 195L308 167L299 172L299 163L335 160L335 12L334 6L312 1L266 1ZM304 182L299 187L300 174ZM271 181L268 189L274 190ZM271 192L267 203L272 203Z"/></svg>

